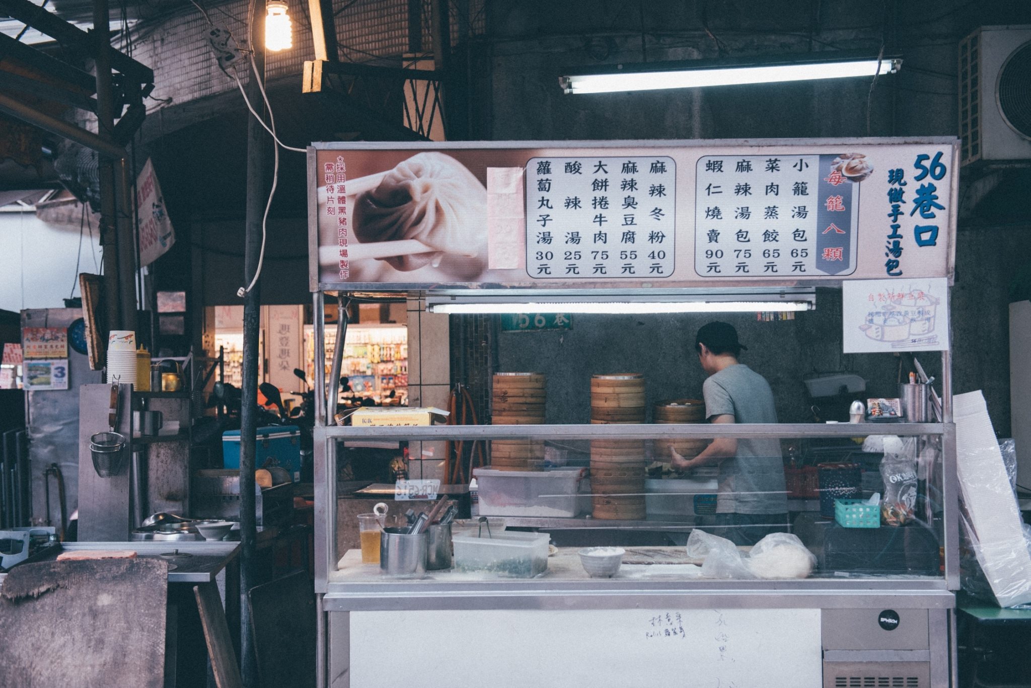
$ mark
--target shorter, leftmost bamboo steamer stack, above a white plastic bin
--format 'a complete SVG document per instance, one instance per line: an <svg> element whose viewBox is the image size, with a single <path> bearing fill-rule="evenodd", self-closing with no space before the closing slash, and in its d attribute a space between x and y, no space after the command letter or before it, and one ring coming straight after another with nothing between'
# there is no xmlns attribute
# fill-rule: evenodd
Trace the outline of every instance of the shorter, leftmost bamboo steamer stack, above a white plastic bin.
<svg viewBox="0 0 1031 688"><path fill-rule="evenodd" d="M544 385L539 372L498 372L491 404L494 425L540 425L544 422ZM544 443L530 439L491 441L491 467L496 470L539 470Z"/></svg>

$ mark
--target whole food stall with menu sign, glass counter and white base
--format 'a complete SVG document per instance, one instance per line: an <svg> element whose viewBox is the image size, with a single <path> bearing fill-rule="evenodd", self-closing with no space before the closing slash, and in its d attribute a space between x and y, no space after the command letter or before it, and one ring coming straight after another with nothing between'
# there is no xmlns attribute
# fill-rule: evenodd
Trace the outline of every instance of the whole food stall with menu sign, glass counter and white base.
<svg viewBox="0 0 1031 688"><path fill-rule="evenodd" d="M530 371L495 376L494 425L337 426L330 380L314 431L319 685L951 685L957 169L952 138L313 144L317 324L327 298L356 293L407 292L435 313L718 320L804 314L830 287L844 353L924 352L937 372L931 381L918 363L921 406L877 398L862 422L781 424L670 412L690 400L647 423L642 390L663 381L606 370L579 400L590 424L550 424L542 399L555 390ZM331 369L345 331L337 325ZM324 328L313 334L321 352ZM696 365L693 334L678 333L669 365ZM325 368L314 366L315 389ZM720 531L702 470L684 477L695 489L672 491L687 496L684 514L647 507L645 466L662 474L670 445L725 437L786 448L794 539L751 551L706 539ZM379 564L340 548L339 448L440 440L484 443L494 457L470 466L484 516L420 537L398 518L405 502L387 502ZM835 441L882 457L879 500L856 482L859 460L821 463L819 485L799 487L805 469L788 448ZM548 465L556 448L565 466ZM910 463L887 474L887 458ZM522 470L495 474L513 461ZM538 478L543 487L527 487ZM522 501L498 496L513 481ZM438 547L442 527L452 547ZM585 545L604 547L581 556Z"/></svg>

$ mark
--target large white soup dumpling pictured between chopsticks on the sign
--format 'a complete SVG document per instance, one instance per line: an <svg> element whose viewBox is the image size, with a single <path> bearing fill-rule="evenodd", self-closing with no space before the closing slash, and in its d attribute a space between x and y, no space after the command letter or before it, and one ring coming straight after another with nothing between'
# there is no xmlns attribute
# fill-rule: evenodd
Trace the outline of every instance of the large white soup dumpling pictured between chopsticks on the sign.
<svg viewBox="0 0 1031 688"><path fill-rule="evenodd" d="M418 239L437 250L381 259L398 270L437 265L445 254L486 253L487 189L442 153L419 153L399 163L355 199L353 212L359 241Z"/></svg>

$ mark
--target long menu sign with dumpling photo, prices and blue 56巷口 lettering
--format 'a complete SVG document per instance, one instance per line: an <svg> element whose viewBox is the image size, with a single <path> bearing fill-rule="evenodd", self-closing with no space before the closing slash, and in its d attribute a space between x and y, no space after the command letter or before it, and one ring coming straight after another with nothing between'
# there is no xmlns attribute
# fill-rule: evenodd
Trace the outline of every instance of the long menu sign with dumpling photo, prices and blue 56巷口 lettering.
<svg viewBox="0 0 1031 688"><path fill-rule="evenodd" d="M318 143L310 287L951 279L956 144Z"/></svg>

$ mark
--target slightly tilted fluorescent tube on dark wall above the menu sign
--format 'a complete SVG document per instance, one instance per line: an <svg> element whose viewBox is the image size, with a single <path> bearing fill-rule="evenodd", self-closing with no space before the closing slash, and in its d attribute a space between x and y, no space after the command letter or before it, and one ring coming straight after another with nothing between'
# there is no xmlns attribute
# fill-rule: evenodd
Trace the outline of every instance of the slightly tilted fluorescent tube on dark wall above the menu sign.
<svg viewBox="0 0 1031 688"><path fill-rule="evenodd" d="M879 62L879 70L876 59L667 70L647 69L644 65L633 65L638 69L628 68L608 74L561 76L559 83L566 93L656 91L659 89L693 89L707 86L873 76L875 73L887 74L898 71L901 64L902 61L899 59L886 58Z"/></svg>

